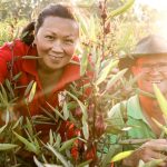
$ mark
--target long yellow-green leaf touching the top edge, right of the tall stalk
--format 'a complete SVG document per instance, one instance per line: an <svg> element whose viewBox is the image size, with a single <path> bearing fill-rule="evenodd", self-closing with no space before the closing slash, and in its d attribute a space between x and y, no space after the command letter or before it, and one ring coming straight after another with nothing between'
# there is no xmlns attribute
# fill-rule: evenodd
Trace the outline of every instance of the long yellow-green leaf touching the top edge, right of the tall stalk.
<svg viewBox="0 0 167 167"><path fill-rule="evenodd" d="M135 2L135 0L128 0L122 7L120 7L120 8L116 9L116 10L111 11L108 14L107 19L112 19L114 17L124 13L125 11L127 11L134 4L134 2Z"/></svg>

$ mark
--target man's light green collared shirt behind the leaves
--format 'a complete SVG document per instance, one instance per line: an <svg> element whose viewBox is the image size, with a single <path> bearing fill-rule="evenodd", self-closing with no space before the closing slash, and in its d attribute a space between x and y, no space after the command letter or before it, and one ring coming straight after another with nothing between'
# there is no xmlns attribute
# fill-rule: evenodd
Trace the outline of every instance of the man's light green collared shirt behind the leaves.
<svg viewBox="0 0 167 167"><path fill-rule="evenodd" d="M126 124L124 120L125 115L127 117ZM127 101L117 104L111 108L108 116L114 126L119 129L125 126L130 127L130 130L127 131L128 139L156 138L156 135L151 131L143 115L138 96L134 96Z"/></svg>

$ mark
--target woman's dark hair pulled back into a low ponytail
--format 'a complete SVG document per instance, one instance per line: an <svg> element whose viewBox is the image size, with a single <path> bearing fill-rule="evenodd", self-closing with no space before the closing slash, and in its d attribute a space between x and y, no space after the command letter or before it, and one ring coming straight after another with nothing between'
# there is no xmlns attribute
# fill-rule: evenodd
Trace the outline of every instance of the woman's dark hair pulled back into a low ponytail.
<svg viewBox="0 0 167 167"><path fill-rule="evenodd" d="M37 35L47 17L60 17L75 20L71 8L62 4L49 4L39 13L37 22L30 22L23 28L21 32L21 40L24 43L30 46L33 42L35 33Z"/></svg>

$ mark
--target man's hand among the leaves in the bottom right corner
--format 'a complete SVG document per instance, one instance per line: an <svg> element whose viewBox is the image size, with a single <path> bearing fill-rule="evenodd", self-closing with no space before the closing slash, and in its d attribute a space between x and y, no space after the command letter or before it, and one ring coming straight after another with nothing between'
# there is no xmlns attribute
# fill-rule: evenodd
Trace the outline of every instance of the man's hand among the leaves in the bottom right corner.
<svg viewBox="0 0 167 167"><path fill-rule="evenodd" d="M167 159L165 153L167 153L167 140L153 139L145 143L129 157L125 158L122 160L122 165L127 167L137 167L140 159L144 163L148 163L154 159L164 159L159 167L167 167Z"/></svg>

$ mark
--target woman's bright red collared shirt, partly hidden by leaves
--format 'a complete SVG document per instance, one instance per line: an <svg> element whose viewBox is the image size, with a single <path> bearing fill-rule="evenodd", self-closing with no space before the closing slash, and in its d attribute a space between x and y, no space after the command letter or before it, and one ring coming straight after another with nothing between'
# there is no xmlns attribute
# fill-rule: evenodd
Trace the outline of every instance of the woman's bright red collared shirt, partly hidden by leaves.
<svg viewBox="0 0 167 167"><path fill-rule="evenodd" d="M37 59L22 59L23 56L37 55L38 53L36 47L27 46L20 40L14 40L12 43L6 43L0 48L0 82L3 82L6 78L11 78L11 76L16 76L21 71L21 77L18 79L16 85L17 87L24 86L24 88L18 89L19 91L17 91L17 94L19 97L22 97L24 95L26 87L30 84L31 80L35 80L37 82L36 96L29 104L31 116L45 114L41 108L45 108L47 111L52 112L48 104L50 104L52 107L58 106L58 94L60 91L63 91L70 82L80 79L80 66L75 63L67 65L60 80L55 86L50 97L46 99L37 72ZM78 61L78 58L73 57L72 60ZM11 65L12 61L13 66ZM12 75L10 72L11 70ZM27 107L24 107L22 102L18 102L18 106L16 108L17 110L19 110L20 115L29 115ZM49 129L55 129L56 127L56 122L53 122L52 125L41 124L37 126L37 131L42 130L42 137L47 137ZM69 121L63 121L61 124L59 132L61 134L62 139L67 137L71 138L75 135L73 126L71 128L71 126L69 126Z"/></svg>

